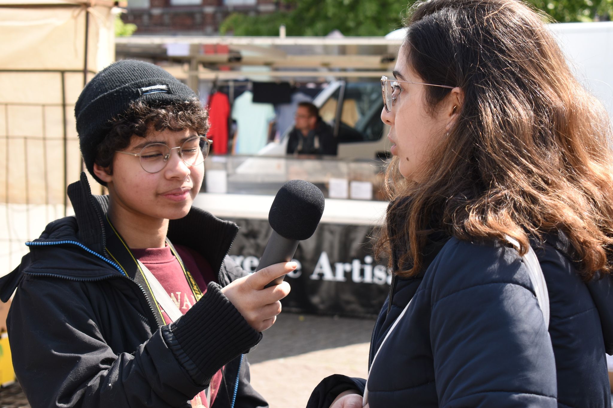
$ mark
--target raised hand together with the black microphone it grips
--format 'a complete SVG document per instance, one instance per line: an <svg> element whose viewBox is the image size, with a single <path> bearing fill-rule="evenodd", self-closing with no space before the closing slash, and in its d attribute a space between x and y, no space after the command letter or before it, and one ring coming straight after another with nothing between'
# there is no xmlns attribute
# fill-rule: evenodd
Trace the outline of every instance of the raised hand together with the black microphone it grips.
<svg viewBox="0 0 613 408"><path fill-rule="evenodd" d="M298 243L310 238L324 212L324 195L304 180L290 180L276 193L268 212L272 234L256 272L230 283L221 291L258 332L275 323L280 300L289 294L283 276L296 269L290 262Z"/></svg>

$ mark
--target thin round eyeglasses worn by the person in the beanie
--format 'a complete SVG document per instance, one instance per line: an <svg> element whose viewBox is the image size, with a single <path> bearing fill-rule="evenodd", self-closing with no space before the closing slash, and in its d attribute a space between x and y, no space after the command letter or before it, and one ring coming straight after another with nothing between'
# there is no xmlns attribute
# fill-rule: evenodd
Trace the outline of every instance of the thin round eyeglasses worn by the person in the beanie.
<svg viewBox="0 0 613 408"><path fill-rule="evenodd" d="M212 143L213 141L205 136L194 136L183 142L181 146L172 148L164 143L150 143L143 147L139 153L115 151L138 157L143 170L148 173L156 173L166 167L170 154L175 149L178 149L177 153L186 165L190 167L201 165L204 163L204 159L207 158Z"/></svg>

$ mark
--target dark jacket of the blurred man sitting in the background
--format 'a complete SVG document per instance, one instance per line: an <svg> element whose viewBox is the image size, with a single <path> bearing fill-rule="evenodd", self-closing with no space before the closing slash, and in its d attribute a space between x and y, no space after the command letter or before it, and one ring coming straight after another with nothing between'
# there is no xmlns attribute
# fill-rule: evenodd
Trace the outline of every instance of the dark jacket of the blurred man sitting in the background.
<svg viewBox="0 0 613 408"><path fill-rule="evenodd" d="M324 154L336 155L338 149L337 139L334 137L332 127L319 119L315 128L302 134L301 130L293 128L287 140L287 154ZM302 140L302 144L300 141Z"/></svg>

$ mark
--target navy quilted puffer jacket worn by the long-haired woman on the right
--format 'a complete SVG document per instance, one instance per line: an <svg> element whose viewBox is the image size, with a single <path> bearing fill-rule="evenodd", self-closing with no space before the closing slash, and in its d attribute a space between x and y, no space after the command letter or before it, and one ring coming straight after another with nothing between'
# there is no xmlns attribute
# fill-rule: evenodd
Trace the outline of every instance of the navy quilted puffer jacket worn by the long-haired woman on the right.
<svg viewBox="0 0 613 408"><path fill-rule="evenodd" d="M613 277L584 283L562 234L535 252L549 333L514 248L429 242L424 269L395 277L375 325L369 364L413 299L370 367L370 407L610 407L604 354L613 353ZM364 379L327 377L308 407L364 387Z"/></svg>

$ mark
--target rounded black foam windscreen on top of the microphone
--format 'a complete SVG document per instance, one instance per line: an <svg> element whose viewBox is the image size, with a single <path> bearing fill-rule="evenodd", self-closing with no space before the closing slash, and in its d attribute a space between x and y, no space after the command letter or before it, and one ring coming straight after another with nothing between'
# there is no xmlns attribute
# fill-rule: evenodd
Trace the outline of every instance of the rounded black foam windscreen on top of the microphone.
<svg viewBox="0 0 613 408"><path fill-rule="evenodd" d="M268 222L280 236L303 241L310 238L324 213L324 194L305 180L289 180L276 193Z"/></svg>

